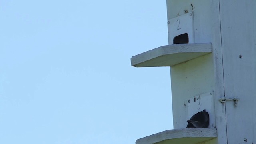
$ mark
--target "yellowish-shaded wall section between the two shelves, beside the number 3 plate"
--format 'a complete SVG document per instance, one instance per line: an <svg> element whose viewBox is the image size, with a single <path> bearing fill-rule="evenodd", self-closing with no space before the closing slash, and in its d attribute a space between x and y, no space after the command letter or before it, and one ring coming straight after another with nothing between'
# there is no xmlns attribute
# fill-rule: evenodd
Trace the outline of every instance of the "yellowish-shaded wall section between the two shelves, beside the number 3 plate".
<svg viewBox="0 0 256 144"><path fill-rule="evenodd" d="M186 122L189 115L188 99L214 89L214 68L212 59L212 54L206 54L171 67L174 129L186 128L188 124L188 122ZM204 109L204 107L201 109ZM214 115L210 112L211 111L209 111L210 116Z"/></svg>

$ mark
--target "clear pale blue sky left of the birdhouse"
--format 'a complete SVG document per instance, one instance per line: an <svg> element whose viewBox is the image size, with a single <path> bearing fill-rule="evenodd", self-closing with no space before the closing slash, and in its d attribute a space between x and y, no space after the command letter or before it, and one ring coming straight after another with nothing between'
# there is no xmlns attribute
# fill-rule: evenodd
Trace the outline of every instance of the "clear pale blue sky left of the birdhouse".
<svg viewBox="0 0 256 144"><path fill-rule="evenodd" d="M166 0L1 0L0 144L134 144L172 129Z"/></svg>

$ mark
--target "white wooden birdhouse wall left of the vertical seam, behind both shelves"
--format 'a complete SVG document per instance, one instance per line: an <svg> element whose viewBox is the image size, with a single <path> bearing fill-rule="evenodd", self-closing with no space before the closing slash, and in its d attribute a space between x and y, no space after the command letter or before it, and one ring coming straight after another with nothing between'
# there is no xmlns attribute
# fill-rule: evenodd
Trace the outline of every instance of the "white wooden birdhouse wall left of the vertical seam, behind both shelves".
<svg viewBox="0 0 256 144"><path fill-rule="evenodd" d="M212 53L171 67L174 128L184 128L186 100L214 91L217 140L207 144L226 144L226 109L218 99L224 96L220 9L218 0L167 0L168 20L188 12L194 14L195 43L212 43ZM227 5L228 6L228 5ZM169 44L172 40L169 40ZM188 78L187 78L188 77Z"/></svg>

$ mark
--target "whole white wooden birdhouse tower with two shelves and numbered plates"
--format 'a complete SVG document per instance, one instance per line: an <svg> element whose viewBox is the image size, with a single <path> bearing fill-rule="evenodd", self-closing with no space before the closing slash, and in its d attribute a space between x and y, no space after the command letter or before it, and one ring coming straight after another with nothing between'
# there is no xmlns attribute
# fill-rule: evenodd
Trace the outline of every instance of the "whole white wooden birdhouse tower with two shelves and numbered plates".
<svg viewBox="0 0 256 144"><path fill-rule="evenodd" d="M136 144L256 144L256 0L167 0L168 46L131 58L170 66L174 130ZM186 128L206 110L208 128Z"/></svg>

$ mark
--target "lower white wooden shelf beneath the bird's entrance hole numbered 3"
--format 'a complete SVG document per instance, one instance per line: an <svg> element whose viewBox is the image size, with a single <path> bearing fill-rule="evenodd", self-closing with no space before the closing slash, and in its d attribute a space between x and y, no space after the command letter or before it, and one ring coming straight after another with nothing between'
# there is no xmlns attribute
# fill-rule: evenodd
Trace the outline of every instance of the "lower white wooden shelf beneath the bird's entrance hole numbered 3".
<svg viewBox="0 0 256 144"><path fill-rule="evenodd" d="M140 138L136 144L197 144L213 138L217 138L216 128L182 128Z"/></svg>

